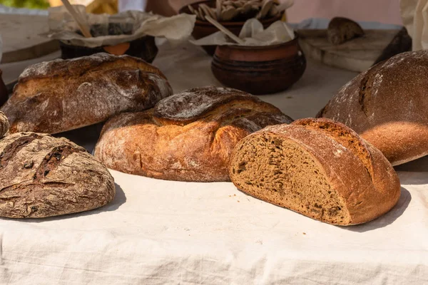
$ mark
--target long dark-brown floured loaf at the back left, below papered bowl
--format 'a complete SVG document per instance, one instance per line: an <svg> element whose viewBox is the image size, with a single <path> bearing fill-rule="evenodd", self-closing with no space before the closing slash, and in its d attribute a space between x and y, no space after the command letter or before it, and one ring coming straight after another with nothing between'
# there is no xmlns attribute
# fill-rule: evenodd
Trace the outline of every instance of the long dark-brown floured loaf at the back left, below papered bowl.
<svg viewBox="0 0 428 285"><path fill-rule="evenodd" d="M132 56L97 53L29 66L1 110L11 133L53 134L152 108L171 94L158 68Z"/></svg>

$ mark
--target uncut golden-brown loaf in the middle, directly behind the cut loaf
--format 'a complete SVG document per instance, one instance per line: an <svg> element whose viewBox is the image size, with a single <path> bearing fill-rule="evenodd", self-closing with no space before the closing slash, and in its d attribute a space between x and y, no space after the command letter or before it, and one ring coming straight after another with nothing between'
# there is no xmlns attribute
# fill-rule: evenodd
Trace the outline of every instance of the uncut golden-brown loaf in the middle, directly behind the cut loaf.
<svg viewBox="0 0 428 285"><path fill-rule="evenodd" d="M104 126L95 156L121 172L181 181L228 181L235 144L267 125L290 123L279 109L243 91L204 87L122 113Z"/></svg>

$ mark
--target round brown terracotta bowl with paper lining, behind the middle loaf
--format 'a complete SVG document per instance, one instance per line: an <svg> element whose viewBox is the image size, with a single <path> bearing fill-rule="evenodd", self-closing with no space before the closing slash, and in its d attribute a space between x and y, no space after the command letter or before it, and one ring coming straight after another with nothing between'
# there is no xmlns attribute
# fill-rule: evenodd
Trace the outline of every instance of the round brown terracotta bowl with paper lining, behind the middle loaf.
<svg viewBox="0 0 428 285"><path fill-rule="evenodd" d="M305 68L297 36L275 46L218 46L211 63L218 81L255 95L289 88L302 77Z"/></svg>

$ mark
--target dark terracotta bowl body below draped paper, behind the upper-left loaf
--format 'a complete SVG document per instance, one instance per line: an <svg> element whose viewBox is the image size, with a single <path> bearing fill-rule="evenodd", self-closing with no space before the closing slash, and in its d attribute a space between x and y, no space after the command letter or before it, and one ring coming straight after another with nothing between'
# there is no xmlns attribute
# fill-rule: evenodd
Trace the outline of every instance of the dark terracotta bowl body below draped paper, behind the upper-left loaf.
<svg viewBox="0 0 428 285"><path fill-rule="evenodd" d="M96 26L91 26L92 36L102 36L107 33L109 35L130 34L131 31L132 26L126 31L123 31L122 28L118 28L115 24L110 24L108 31L99 31ZM77 31L77 33L81 32ZM59 41L59 46L61 48L61 58L63 59L91 56L93 53L113 53L116 55L127 54L128 56L135 56L137 58L142 58L148 63L152 63L158 54L158 47L156 46L153 36L143 36L127 43L120 43L114 47L98 46L96 48L88 48L86 46L72 46L63 41Z"/></svg>

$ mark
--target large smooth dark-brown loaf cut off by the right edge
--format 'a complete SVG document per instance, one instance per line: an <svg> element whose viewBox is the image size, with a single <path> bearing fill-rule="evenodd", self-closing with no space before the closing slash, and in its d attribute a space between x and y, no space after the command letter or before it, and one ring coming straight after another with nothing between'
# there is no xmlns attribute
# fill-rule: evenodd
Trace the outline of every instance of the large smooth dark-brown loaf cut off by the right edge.
<svg viewBox="0 0 428 285"><path fill-rule="evenodd" d="M400 53L352 79L317 117L345 123L392 165L428 154L428 51Z"/></svg>

